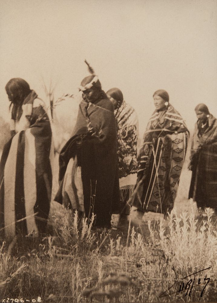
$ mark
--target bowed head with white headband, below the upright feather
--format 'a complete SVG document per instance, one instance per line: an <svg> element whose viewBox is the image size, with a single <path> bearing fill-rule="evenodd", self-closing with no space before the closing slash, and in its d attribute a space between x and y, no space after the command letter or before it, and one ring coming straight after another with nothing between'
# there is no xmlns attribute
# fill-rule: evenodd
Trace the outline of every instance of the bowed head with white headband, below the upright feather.
<svg viewBox="0 0 217 303"><path fill-rule="evenodd" d="M82 91L84 101L95 103L102 94L101 83L97 76L90 75L81 81L79 89Z"/></svg>

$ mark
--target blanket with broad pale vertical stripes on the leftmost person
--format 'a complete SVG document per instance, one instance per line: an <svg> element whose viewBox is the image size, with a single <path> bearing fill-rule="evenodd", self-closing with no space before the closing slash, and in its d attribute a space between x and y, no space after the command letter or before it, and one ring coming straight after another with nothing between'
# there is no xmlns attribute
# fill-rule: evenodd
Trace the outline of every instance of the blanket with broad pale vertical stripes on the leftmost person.
<svg viewBox="0 0 217 303"><path fill-rule="evenodd" d="M37 236L46 228L52 188L51 126L43 107L31 91L20 120L11 121L16 134L6 143L0 163L0 230L6 238L19 233Z"/></svg>

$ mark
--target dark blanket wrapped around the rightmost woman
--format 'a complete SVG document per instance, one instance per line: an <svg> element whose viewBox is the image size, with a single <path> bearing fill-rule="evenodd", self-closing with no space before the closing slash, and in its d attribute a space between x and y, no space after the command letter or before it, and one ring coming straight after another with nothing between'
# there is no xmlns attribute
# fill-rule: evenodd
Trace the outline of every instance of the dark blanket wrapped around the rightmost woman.
<svg viewBox="0 0 217 303"><path fill-rule="evenodd" d="M217 119L209 115L209 126L199 135L199 123L195 125L191 146L192 179L189 198L198 207L217 207Z"/></svg>

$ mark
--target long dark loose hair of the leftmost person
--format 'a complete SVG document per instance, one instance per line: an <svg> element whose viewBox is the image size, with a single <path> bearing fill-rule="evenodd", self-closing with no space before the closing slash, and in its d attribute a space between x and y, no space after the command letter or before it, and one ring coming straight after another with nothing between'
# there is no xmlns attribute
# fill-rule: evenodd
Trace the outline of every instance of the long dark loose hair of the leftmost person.
<svg viewBox="0 0 217 303"><path fill-rule="evenodd" d="M31 92L29 84L24 79L12 78L6 84L5 90L9 101L11 101L9 108L11 108L12 104L14 105L12 108L12 118L19 121L22 115L24 99Z"/></svg>

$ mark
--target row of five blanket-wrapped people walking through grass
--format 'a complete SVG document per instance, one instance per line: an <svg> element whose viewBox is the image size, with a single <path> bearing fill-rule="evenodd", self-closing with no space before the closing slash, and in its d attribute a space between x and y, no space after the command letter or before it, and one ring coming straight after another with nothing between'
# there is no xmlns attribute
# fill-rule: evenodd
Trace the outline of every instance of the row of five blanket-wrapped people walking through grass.
<svg viewBox="0 0 217 303"><path fill-rule="evenodd" d="M11 139L0 163L1 236L46 232L52 191L51 122L43 101L21 78L6 85ZM95 215L95 226L117 227L130 206L166 216L173 209L189 131L164 90L153 94L151 115L137 153L138 118L118 88L105 93L97 76L81 82L82 101L71 138L59 155L54 200L71 211ZM195 108L189 198L216 208L217 120L205 104ZM128 202L128 203L127 203Z"/></svg>

